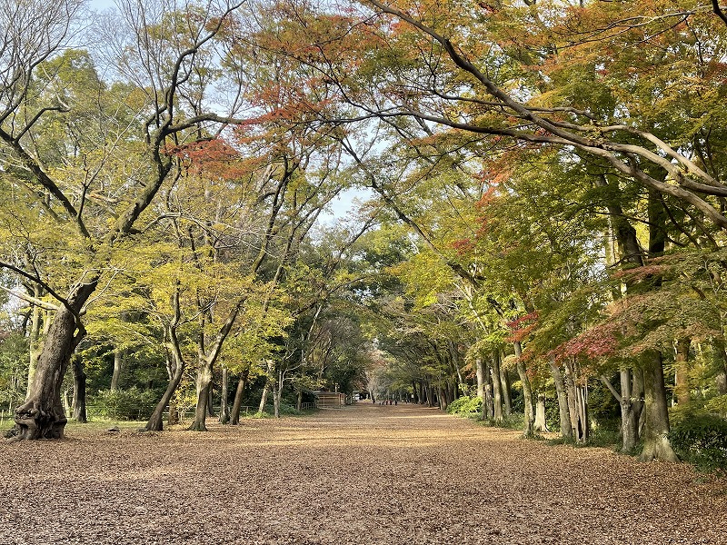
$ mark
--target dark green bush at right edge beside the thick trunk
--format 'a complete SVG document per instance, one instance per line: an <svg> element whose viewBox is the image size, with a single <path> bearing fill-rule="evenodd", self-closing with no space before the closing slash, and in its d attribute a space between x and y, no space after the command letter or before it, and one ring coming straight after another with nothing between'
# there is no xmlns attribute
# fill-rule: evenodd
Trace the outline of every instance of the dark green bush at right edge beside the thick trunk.
<svg viewBox="0 0 727 545"><path fill-rule="evenodd" d="M685 414L669 432L672 448L698 470L727 472L727 421L712 414Z"/></svg>

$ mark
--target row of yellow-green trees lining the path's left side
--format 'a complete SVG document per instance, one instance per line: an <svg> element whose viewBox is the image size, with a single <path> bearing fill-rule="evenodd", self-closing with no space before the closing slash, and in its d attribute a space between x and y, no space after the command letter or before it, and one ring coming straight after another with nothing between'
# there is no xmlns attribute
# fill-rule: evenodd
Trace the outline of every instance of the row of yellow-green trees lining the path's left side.
<svg viewBox="0 0 727 545"><path fill-rule="evenodd" d="M341 154L275 114L294 73L238 40L244 3L121 2L93 25L82 2L2 8L0 266L30 352L16 438L62 436L73 354L114 352L114 386L129 354L161 359L149 430L190 369L195 430L217 366L223 388L264 373L276 409L304 367L322 369L300 388L323 386L322 306L370 222L314 230Z"/></svg>

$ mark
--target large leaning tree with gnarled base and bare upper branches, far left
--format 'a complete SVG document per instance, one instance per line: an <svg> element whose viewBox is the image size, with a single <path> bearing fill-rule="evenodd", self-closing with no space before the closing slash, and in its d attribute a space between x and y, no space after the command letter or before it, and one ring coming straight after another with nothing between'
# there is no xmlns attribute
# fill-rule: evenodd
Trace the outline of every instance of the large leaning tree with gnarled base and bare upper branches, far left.
<svg viewBox="0 0 727 545"><path fill-rule="evenodd" d="M68 233L71 244L66 247L67 255L73 263L66 269L64 279L54 278L53 284L37 269L25 269L9 261L2 263L6 270L44 286L55 299L54 304L45 304L52 309L53 318L27 399L15 411L17 439L63 436L66 419L60 385L71 355L85 335L86 304L103 282L108 250L134 235L134 225L173 173L174 157L166 153L167 146L179 142L186 134L194 138L194 131L190 134L190 130L204 123L229 120L209 111L184 112L180 97L193 88L202 88L201 72L197 71L200 58L214 46L224 21L239 5L211 3L204 13L195 12L194 16L173 14L171 5L163 2L154 5L154 13L145 7L133 2L122 4L127 26L116 26L116 49L111 47L109 52L117 54L122 74L125 70L126 74L141 78L140 86L134 88L134 93L144 96L141 108L133 114L138 124L122 124L123 120L115 117L116 111L132 109L132 101L123 103L121 109L118 104L112 107L97 102L94 119L102 127L117 131L116 136L104 131L105 137L100 141L81 143L86 145L76 146L70 157L76 168L55 171L55 165L46 162L44 150L35 144L42 141L41 122L55 114L72 113L84 103L65 100L59 93L60 72L49 74L43 68L46 61L52 61L69 45L74 25L82 15L80 3L64 1L48 6L9 1L2 6L6 39L0 66L4 74L0 141L7 153L3 165L5 183L13 183L18 191L22 188L36 214ZM186 7L189 15L191 7ZM175 28L183 33L184 39L158 32L168 16L179 22L184 20L184 27ZM124 28L129 29L128 34L122 32ZM132 44L134 47L127 47ZM166 52L165 58L156 54L160 48ZM87 67L82 69L88 73ZM38 88L40 84L43 86ZM140 131L134 134L137 127ZM117 139L131 142L124 151L134 150L133 161L128 156L118 163L112 161L119 149L113 145ZM121 164L132 169L126 169L119 178L114 175L113 166Z"/></svg>

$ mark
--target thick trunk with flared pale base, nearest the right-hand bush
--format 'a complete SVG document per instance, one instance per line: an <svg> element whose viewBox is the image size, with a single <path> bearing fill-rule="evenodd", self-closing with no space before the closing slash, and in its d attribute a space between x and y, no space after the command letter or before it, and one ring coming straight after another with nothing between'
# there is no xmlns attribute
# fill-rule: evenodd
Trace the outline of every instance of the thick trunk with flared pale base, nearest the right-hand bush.
<svg viewBox="0 0 727 545"><path fill-rule="evenodd" d="M647 351L642 355L645 426L642 434L641 461L679 461L666 437L669 411L664 387L662 353Z"/></svg>

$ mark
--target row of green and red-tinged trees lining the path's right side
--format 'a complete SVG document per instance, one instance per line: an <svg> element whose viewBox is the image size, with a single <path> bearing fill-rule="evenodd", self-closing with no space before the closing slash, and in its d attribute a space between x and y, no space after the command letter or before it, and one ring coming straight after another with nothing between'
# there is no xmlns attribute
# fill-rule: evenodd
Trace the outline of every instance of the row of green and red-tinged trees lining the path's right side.
<svg viewBox="0 0 727 545"><path fill-rule="evenodd" d="M643 460L675 460L670 401L723 413L727 399L720 7L371 0L340 13L296 4L270 47L340 95L307 112L361 127L344 148L417 237L399 269L420 311L397 313L400 363L462 383L469 355L495 419L512 364L524 432L552 387L575 441L588 382L603 381L623 450L642 441Z"/></svg>

